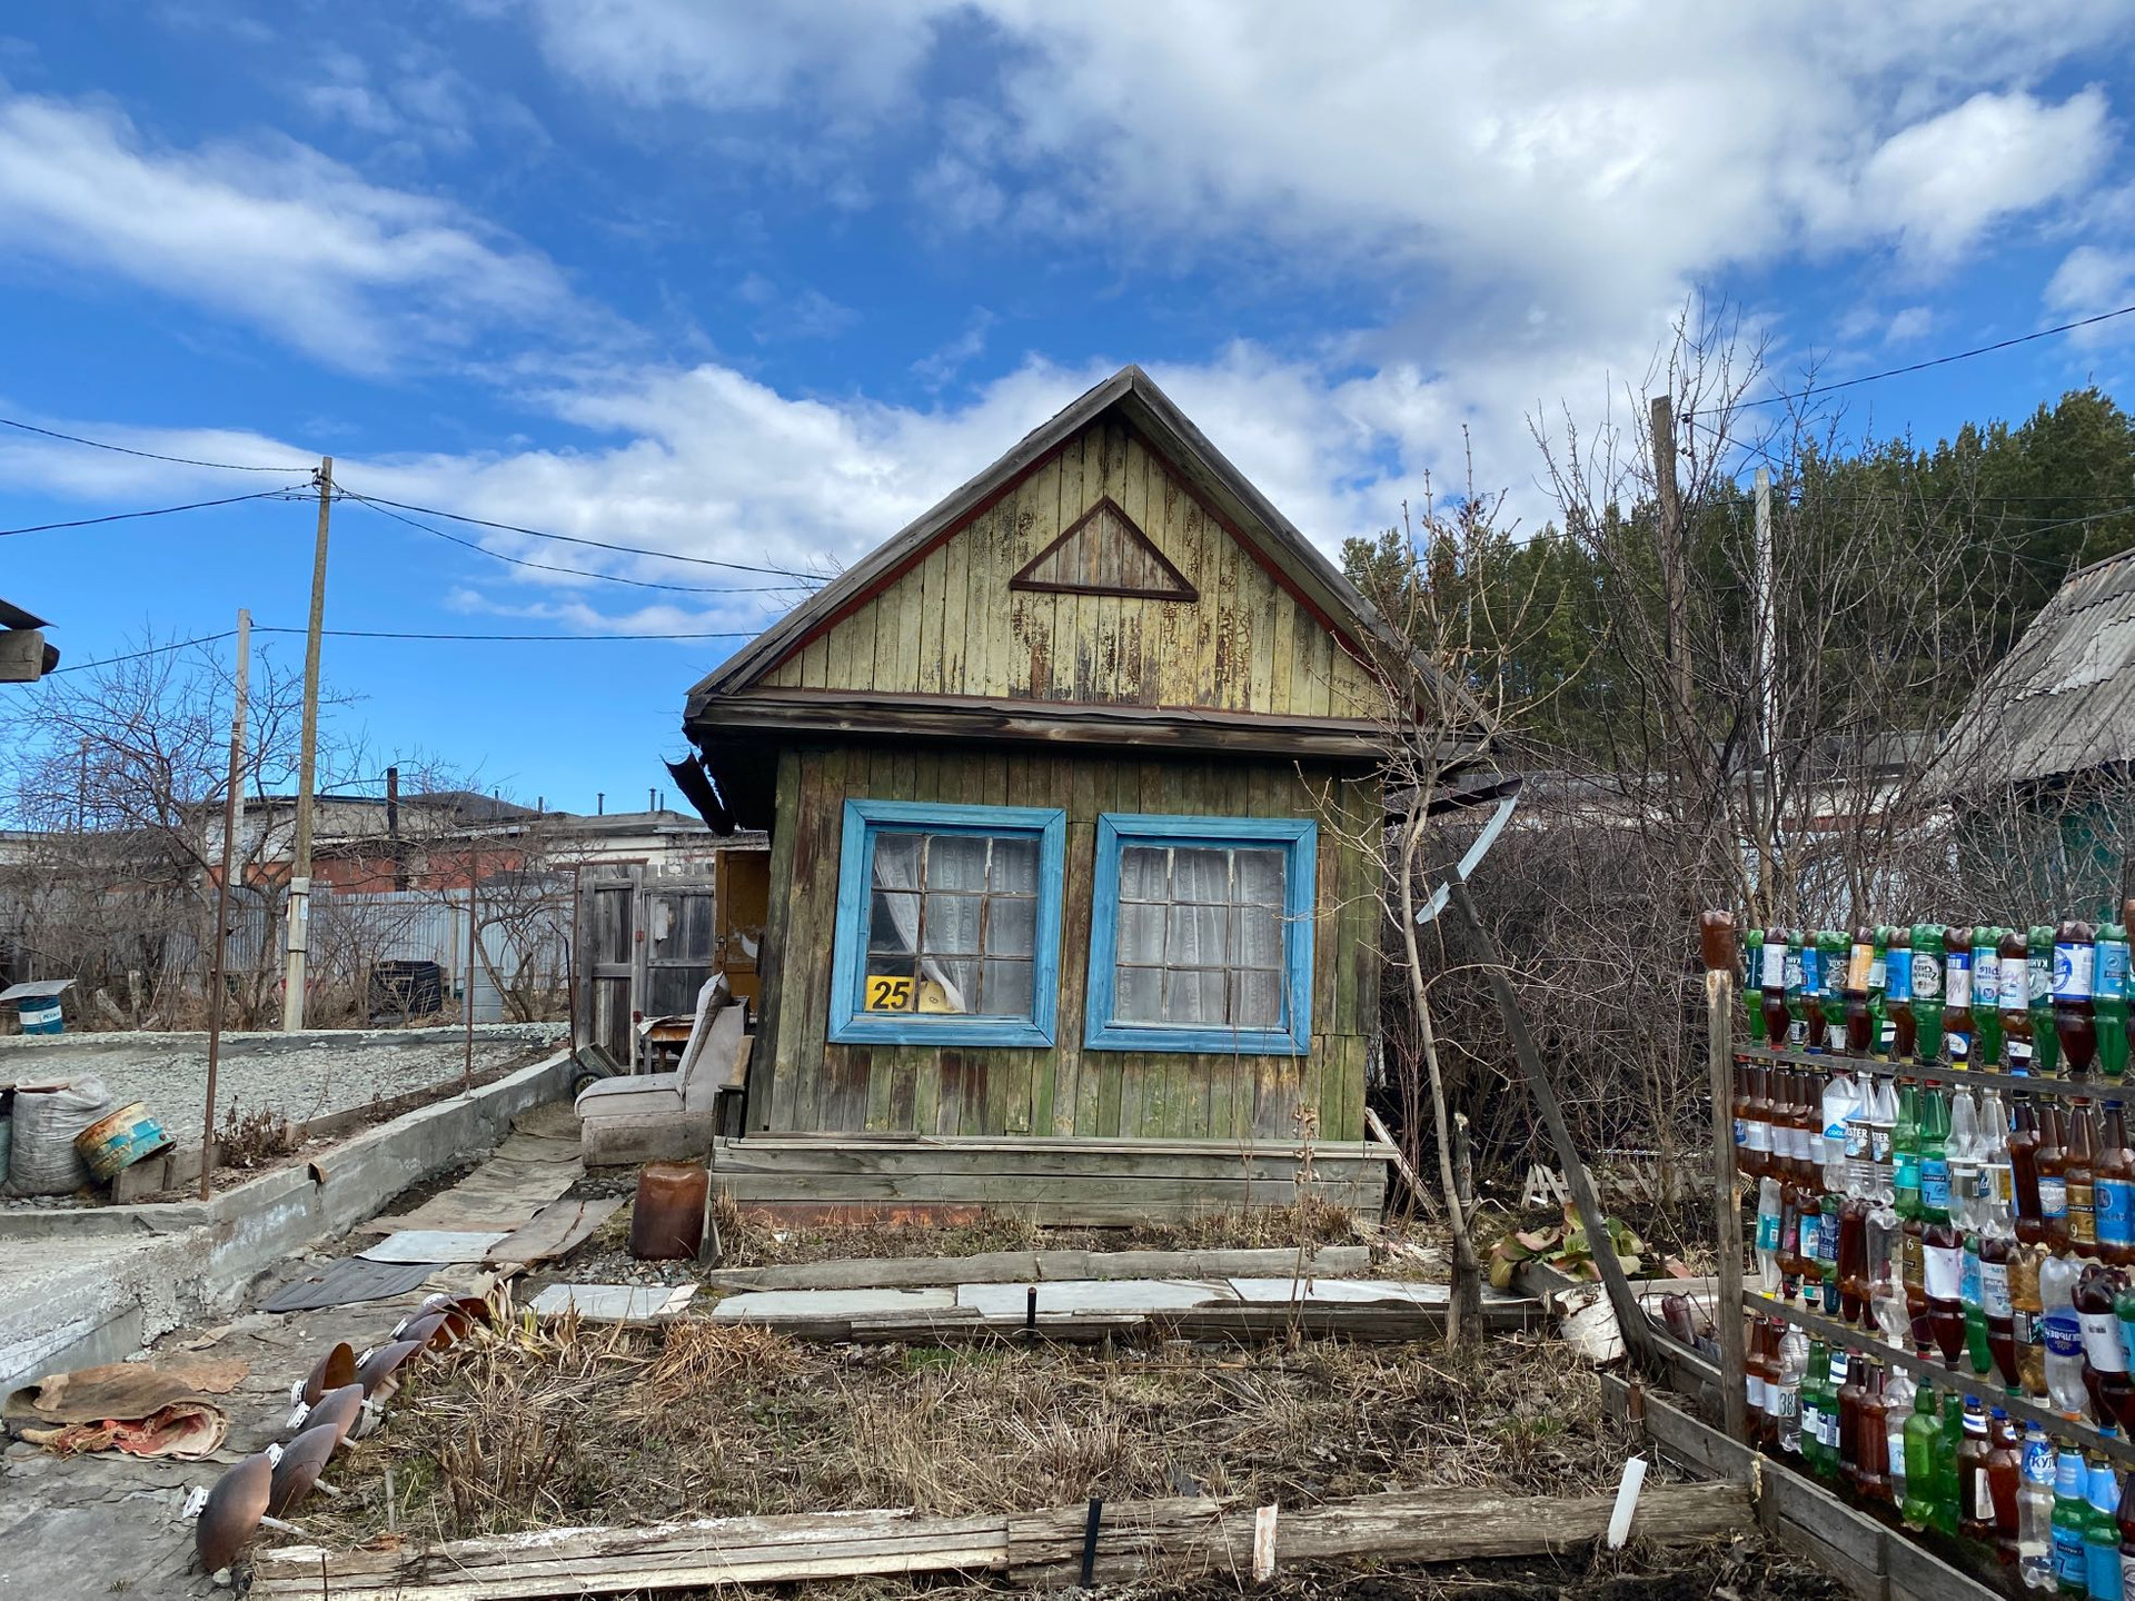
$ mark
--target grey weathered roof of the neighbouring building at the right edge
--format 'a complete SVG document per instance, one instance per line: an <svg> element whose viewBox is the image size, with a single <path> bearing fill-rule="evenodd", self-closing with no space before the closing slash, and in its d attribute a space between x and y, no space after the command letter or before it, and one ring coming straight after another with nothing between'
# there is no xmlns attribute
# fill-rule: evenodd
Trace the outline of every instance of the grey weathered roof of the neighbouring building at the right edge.
<svg viewBox="0 0 2135 1601"><path fill-rule="evenodd" d="M2135 551L2077 568L1979 683L1934 758L1956 792L2135 762Z"/></svg>

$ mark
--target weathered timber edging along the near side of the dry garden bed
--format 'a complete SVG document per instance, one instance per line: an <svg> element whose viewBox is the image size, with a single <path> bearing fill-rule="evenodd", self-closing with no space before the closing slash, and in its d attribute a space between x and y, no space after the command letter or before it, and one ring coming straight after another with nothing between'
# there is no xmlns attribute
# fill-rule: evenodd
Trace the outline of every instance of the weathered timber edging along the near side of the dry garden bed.
<svg viewBox="0 0 2135 1601"><path fill-rule="evenodd" d="M1556 1554L1599 1539L1616 1499L1505 1496L1486 1490L1394 1490L1283 1511L1277 1569L1356 1556L1458 1563ZM1170 1573L1249 1567L1253 1507L1206 1499L1106 1505L1095 1573L1125 1580L1157 1558ZM549 1528L442 1545L331 1552L284 1545L256 1558L252 1595L515 1601L536 1597L779 1584L820 1578L1006 1573L1023 1588L1072 1582L1087 1507L980 1518L837 1511L705 1518L655 1528ZM1633 1539L1695 1541L1751 1526L1736 1484L1657 1484L1640 1496Z"/></svg>

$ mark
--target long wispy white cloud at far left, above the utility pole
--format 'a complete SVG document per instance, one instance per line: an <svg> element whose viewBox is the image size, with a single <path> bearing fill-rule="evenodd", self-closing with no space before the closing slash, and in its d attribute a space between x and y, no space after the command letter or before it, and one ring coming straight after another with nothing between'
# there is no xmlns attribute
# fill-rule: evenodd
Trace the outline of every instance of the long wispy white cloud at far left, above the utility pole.
<svg viewBox="0 0 2135 1601"><path fill-rule="evenodd" d="M544 256L446 201L286 139L160 147L66 100L0 92L0 260L126 278L354 371L589 316Z"/></svg>

